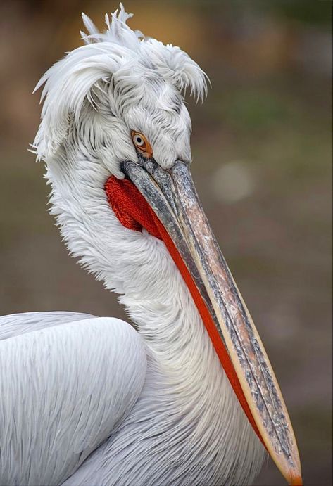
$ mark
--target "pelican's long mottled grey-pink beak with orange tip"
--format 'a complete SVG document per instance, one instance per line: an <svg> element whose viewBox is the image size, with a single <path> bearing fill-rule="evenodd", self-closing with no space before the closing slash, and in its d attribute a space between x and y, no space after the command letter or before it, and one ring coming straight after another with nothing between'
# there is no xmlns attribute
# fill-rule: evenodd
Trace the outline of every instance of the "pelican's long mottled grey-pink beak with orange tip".
<svg viewBox="0 0 333 486"><path fill-rule="evenodd" d="M122 167L182 257L182 274L191 276L194 300L199 294L206 306L201 316L204 322L210 319L206 327L222 365L232 366L237 378L228 376L235 392L240 385L237 397L246 401L242 405L253 428L289 484L302 485L299 452L279 385L203 212L189 165L177 161L163 170L153 159L141 158L139 164L122 162Z"/></svg>

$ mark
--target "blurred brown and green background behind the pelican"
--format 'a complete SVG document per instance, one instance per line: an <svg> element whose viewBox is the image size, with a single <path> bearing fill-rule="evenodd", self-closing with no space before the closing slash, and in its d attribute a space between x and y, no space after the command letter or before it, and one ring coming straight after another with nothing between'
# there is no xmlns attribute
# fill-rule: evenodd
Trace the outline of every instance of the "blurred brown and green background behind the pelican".
<svg viewBox="0 0 333 486"><path fill-rule="evenodd" d="M68 257L46 212L32 89L80 45L80 13L103 28L115 1L0 4L0 314L122 316ZM189 100L194 180L270 356L305 485L332 484L331 2L125 1L132 28L180 45L211 79ZM257 485L284 485L268 462ZM210 485L207 485L210 486Z"/></svg>

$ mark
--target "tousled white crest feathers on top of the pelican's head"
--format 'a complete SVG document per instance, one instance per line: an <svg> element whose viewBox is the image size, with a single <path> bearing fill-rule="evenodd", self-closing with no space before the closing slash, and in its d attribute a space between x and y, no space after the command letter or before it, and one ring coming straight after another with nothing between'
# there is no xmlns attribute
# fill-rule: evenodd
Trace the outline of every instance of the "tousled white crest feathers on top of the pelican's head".
<svg viewBox="0 0 333 486"><path fill-rule="evenodd" d="M130 105L146 100L153 104L167 96L177 105L177 96L167 93L165 85L177 91L182 100L189 89L196 100L207 92L206 74L187 53L177 46L164 45L146 38L126 24L132 13L122 4L106 14L105 32L99 32L92 20L82 13L87 34L80 32L84 45L68 53L39 80L42 87L42 122L32 148L38 159L53 156L68 134L71 120L80 118L84 103L96 108L103 95L110 102L111 113L123 116ZM149 101L149 97L151 100ZM103 103L102 103L103 104Z"/></svg>

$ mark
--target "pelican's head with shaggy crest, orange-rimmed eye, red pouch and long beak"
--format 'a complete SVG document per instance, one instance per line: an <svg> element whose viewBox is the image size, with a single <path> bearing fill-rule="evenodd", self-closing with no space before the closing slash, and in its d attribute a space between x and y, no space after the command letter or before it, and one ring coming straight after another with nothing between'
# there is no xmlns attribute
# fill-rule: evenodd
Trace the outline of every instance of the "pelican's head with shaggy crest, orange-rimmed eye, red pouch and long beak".
<svg viewBox="0 0 333 486"><path fill-rule="evenodd" d="M101 164L122 226L146 229L165 243L253 429L289 484L301 485L279 385L191 179L191 122L182 93L189 88L202 98L205 75L179 48L140 40L127 18L121 9L105 34L86 18L87 45L42 77L34 148L46 164L58 151L93 161L90 170Z"/></svg>

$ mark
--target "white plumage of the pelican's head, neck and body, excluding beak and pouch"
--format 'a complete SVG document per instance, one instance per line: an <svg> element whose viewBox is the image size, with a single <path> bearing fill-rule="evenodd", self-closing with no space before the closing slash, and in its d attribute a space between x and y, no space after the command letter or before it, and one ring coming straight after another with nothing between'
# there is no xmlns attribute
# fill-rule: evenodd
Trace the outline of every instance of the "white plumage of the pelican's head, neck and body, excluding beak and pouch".
<svg viewBox="0 0 333 486"><path fill-rule="evenodd" d="M70 253L137 331L66 312L0 319L1 485L248 485L265 458L165 244L122 226L106 198L137 160L131 129L161 167L190 162L183 94L206 94L199 66L129 16L120 6L101 34L83 15L86 44L37 85L34 150Z"/></svg>

